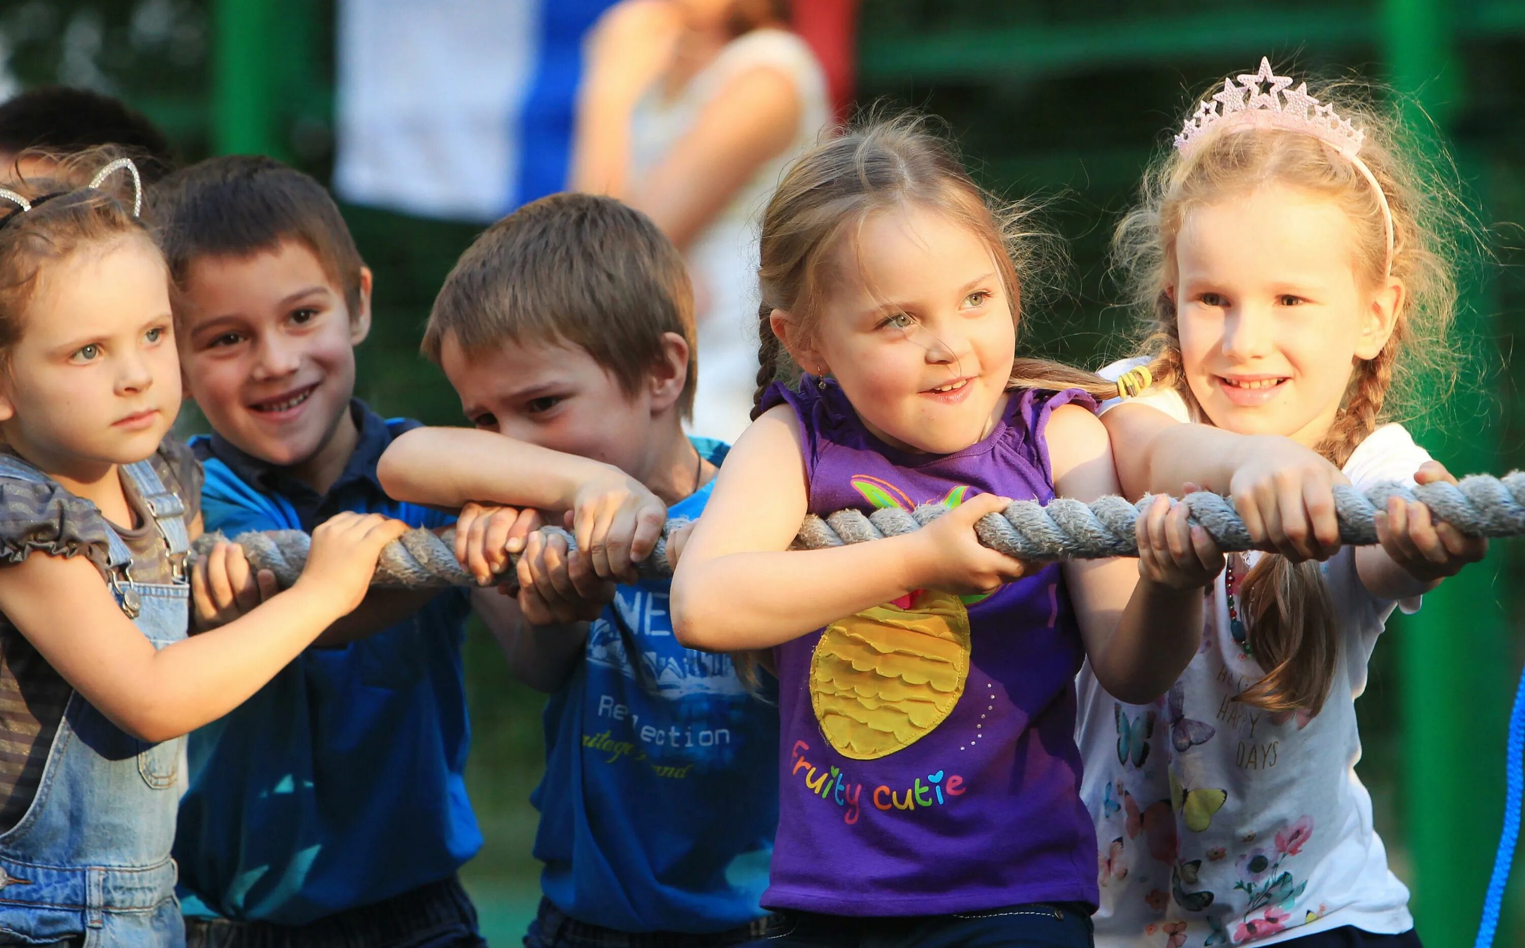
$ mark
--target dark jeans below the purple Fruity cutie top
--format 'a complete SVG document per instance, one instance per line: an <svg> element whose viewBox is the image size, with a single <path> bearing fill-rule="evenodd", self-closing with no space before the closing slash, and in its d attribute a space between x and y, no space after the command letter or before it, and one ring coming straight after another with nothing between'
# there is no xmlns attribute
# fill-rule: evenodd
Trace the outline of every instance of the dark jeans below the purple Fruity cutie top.
<svg viewBox="0 0 1525 948"><path fill-rule="evenodd" d="M1075 902L872 919L784 911L759 943L791 948L1092 948L1092 925L1090 908Z"/></svg>

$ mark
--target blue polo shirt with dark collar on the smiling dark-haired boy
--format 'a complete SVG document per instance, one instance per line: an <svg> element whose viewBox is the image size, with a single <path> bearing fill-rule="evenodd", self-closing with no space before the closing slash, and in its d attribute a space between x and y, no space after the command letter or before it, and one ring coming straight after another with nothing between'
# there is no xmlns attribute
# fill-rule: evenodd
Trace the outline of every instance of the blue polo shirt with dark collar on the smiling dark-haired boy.
<svg viewBox="0 0 1525 948"><path fill-rule="evenodd" d="M351 404L360 442L317 494L221 436L191 442L206 529L303 529L340 511L419 527L453 521L377 480L418 427ZM253 698L191 735L175 860L189 916L302 925L448 878L482 846L467 800L461 643L470 602L447 590L393 626L302 652Z"/></svg>

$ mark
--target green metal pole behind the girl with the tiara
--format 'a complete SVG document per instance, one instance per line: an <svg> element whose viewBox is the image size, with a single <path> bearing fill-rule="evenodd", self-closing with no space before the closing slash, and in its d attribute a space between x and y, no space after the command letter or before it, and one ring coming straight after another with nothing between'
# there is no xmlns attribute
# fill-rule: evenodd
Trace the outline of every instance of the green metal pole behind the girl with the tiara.
<svg viewBox="0 0 1525 948"><path fill-rule="evenodd" d="M1389 79L1409 99L1409 117L1421 123L1423 107L1446 128L1459 70L1446 5L1385 0L1383 27ZM1458 338L1481 337L1490 343L1482 349L1491 349L1487 312L1484 294L1464 299ZM1498 460L1498 416L1469 383L1449 396L1432 387L1437 410L1415 430L1456 474L1491 471ZM1394 629L1403 669L1412 908L1430 948L1472 945L1498 840L1511 665L1498 562L1494 553L1447 579ZM1513 942L1501 931L1498 943Z"/></svg>

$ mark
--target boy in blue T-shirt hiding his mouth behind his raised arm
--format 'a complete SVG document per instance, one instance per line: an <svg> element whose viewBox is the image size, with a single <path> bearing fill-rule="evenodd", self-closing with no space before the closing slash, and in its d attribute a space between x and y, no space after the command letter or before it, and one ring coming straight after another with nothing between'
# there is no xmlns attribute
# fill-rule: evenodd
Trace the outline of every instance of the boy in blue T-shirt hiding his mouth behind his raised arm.
<svg viewBox="0 0 1525 948"><path fill-rule="evenodd" d="M673 637L668 582L637 581L666 517L695 518L726 448L686 439L694 302L682 258L612 198L554 195L488 229L435 300L424 352L477 431L421 428L387 448L393 497L462 508L479 579L518 549L515 674L551 692L528 948L741 945L778 821L778 712L727 655ZM514 509L573 514L580 550ZM618 587L602 581L618 578ZM589 622L592 620L592 622Z"/></svg>

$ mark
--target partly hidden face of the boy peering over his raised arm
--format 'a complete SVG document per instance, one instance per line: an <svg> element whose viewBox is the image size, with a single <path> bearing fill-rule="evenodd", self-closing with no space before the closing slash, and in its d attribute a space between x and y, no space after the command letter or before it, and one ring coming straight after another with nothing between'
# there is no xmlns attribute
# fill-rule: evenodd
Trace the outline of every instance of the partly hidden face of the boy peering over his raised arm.
<svg viewBox="0 0 1525 948"><path fill-rule="evenodd" d="M447 332L439 364L477 428L644 476L651 399L627 393L583 347L503 341L465 352Z"/></svg>

